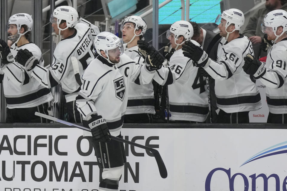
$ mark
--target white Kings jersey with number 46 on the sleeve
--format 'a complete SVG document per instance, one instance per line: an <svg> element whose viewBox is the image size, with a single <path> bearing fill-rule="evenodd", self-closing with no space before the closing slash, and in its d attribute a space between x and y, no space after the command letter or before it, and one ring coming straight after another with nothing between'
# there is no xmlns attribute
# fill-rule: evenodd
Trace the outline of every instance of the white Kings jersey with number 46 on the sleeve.
<svg viewBox="0 0 287 191"><path fill-rule="evenodd" d="M196 41L191 41L200 46ZM161 85L168 85L172 120L206 120L209 113L206 79L181 49L173 53L167 67L156 71L154 79Z"/></svg>

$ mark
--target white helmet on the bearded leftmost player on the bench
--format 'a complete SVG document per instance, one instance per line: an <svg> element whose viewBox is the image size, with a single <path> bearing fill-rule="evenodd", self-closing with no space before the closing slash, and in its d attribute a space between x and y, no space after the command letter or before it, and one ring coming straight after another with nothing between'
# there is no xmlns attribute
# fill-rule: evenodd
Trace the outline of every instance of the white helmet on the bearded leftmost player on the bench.
<svg viewBox="0 0 287 191"><path fill-rule="evenodd" d="M14 24L16 24L18 32L16 35L8 36L8 39L17 43L22 35L26 34L28 31L32 30L33 19L27 13L17 13L15 15L12 15L9 18L8 22L6 23L6 32L8 32L10 27L15 26ZM20 29L21 29L22 25L26 25L28 28L27 31L25 31L24 33L20 33Z"/></svg>

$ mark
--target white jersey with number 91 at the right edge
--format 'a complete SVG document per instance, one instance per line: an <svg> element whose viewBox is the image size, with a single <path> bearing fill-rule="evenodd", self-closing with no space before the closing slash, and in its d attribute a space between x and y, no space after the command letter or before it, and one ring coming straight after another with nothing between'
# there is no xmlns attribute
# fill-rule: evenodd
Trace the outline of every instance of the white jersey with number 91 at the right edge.
<svg viewBox="0 0 287 191"><path fill-rule="evenodd" d="M266 85L269 111L274 114L287 113L287 38L274 44L266 59L266 72L259 78Z"/></svg>

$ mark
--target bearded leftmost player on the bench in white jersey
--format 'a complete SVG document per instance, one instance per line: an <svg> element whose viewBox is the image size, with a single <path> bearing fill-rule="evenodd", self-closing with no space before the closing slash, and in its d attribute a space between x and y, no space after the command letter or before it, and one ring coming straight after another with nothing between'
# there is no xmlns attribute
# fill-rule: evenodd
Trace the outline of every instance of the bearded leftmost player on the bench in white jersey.
<svg viewBox="0 0 287 191"><path fill-rule="evenodd" d="M8 39L14 44L9 49L7 43L0 39L0 52L4 72L3 89L7 103L6 123L46 123L45 118L34 115L35 112L48 114L48 101L53 99L48 88L29 78L29 72L14 60L17 51L27 49L44 65L42 53L36 44L30 42L33 27L32 17L27 13L12 15L7 24ZM22 59L22 58L19 58Z"/></svg>

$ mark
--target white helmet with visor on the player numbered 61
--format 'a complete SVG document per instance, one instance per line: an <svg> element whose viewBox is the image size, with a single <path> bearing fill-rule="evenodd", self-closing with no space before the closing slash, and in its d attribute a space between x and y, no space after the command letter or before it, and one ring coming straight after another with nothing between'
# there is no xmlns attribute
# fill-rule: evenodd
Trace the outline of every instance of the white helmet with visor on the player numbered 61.
<svg viewBox="0 0 287 191"><path fill-rule="evenodd" d="M234 24L234 26L235 26L235 29L233 31L227 32L227 36L225 37L226 40L228 39L228 36L230 33L233 33L235 30L240 30L241 27L244 25L244 22L245 22L244 14L239 9L227 9L227 10L223 11L221 14L219 14L216 17L215 23L219 24L221 19L226 20L226 24L225 24L225 31L226 32L227 32L226 28L230 24Z"/></svg>

